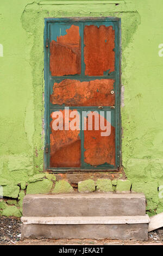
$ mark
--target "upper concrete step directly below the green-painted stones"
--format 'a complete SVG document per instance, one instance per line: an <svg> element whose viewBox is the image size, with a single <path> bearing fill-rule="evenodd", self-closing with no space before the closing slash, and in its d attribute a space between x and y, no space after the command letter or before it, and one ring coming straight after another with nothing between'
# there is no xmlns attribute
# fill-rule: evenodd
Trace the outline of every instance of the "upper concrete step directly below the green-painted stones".
<svg viewBox="0 0 163 256"><path fill-rule="evenodd" d="M28 194L24 217L145 216L146 199L138 193Z"/></svg>

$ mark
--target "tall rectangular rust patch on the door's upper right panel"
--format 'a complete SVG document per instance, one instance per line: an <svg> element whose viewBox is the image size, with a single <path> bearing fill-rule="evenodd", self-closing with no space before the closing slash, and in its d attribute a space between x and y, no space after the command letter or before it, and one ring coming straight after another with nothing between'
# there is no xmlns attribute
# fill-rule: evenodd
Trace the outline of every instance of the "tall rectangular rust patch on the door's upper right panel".
<svg viewBox="0 0 163 256"><path fill-rule="evenodd" d="M103 76L115 70L115 31L112 26L85 26L84 28L85 75Z"/></svg>

